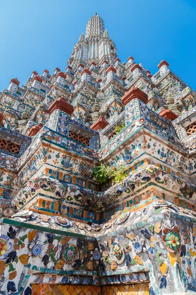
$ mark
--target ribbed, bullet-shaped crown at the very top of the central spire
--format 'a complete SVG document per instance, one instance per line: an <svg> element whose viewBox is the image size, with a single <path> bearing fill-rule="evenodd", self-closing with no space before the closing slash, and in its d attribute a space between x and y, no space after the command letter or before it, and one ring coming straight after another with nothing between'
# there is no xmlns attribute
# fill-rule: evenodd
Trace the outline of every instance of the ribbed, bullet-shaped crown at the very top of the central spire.
<svg viewBox="0 0 196 295"><path fill-rule="evenodd" d="M105 30L104 22L102 18L100 18L100 16L98 16L96 12L95 15L92 16L87 23L85 39L90 37L101 36L103 35L104 30Z"/></svg>

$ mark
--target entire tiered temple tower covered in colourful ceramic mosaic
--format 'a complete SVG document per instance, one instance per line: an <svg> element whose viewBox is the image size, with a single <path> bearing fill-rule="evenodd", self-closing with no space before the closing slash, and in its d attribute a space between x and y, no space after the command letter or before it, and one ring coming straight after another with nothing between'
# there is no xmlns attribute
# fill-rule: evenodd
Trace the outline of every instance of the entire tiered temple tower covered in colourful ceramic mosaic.
<svg viewBox="0 0 196 295"><path fill-rule="evenodd" d="M138 63L96 13L0 92L0 294L196 294L196 92Z"/></svg>

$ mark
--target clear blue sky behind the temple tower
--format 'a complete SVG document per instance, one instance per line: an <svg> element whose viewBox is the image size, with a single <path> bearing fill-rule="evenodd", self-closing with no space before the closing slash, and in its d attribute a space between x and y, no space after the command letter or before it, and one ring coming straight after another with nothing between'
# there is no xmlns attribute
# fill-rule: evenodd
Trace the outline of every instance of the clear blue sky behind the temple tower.
<svg viewBox="0 0 196 295"><path fill-rule="evenodd" d="M195 0L1 0L0 91L33 70L65 70L73 43L98 13L123 61L157 71L161 59L196 90Z"/></svg>

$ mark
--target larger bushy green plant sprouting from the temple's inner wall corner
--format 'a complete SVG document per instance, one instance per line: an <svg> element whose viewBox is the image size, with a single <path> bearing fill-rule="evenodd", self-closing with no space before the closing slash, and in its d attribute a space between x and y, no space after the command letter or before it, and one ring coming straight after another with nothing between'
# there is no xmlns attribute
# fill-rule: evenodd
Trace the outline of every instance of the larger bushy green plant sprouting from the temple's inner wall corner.
<svg viewBox="0 0 196 295"><path fill-rule="evenodd" d="M124 171L125 166L121 166L120 169L112 169L108 165L100 164L93 171L94 177L98 179L100 184L106 180L112 179L113 183L121 182L125 177L127 177L126 172Z"/></svg>

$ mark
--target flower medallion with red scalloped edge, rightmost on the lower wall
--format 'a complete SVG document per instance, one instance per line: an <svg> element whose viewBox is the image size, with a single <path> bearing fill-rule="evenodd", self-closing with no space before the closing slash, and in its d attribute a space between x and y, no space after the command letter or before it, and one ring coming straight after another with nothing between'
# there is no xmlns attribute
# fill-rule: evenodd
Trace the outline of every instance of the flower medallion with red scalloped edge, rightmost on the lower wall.
<svg viewBox="0 0 196 295"><path fill-rule="evenodd" d="M164 228L163 234L165 235L162 236L162 240L168 251L172 253L179 252L181 249L179 228L177 226L173 226L172 229Z"/></svg>

